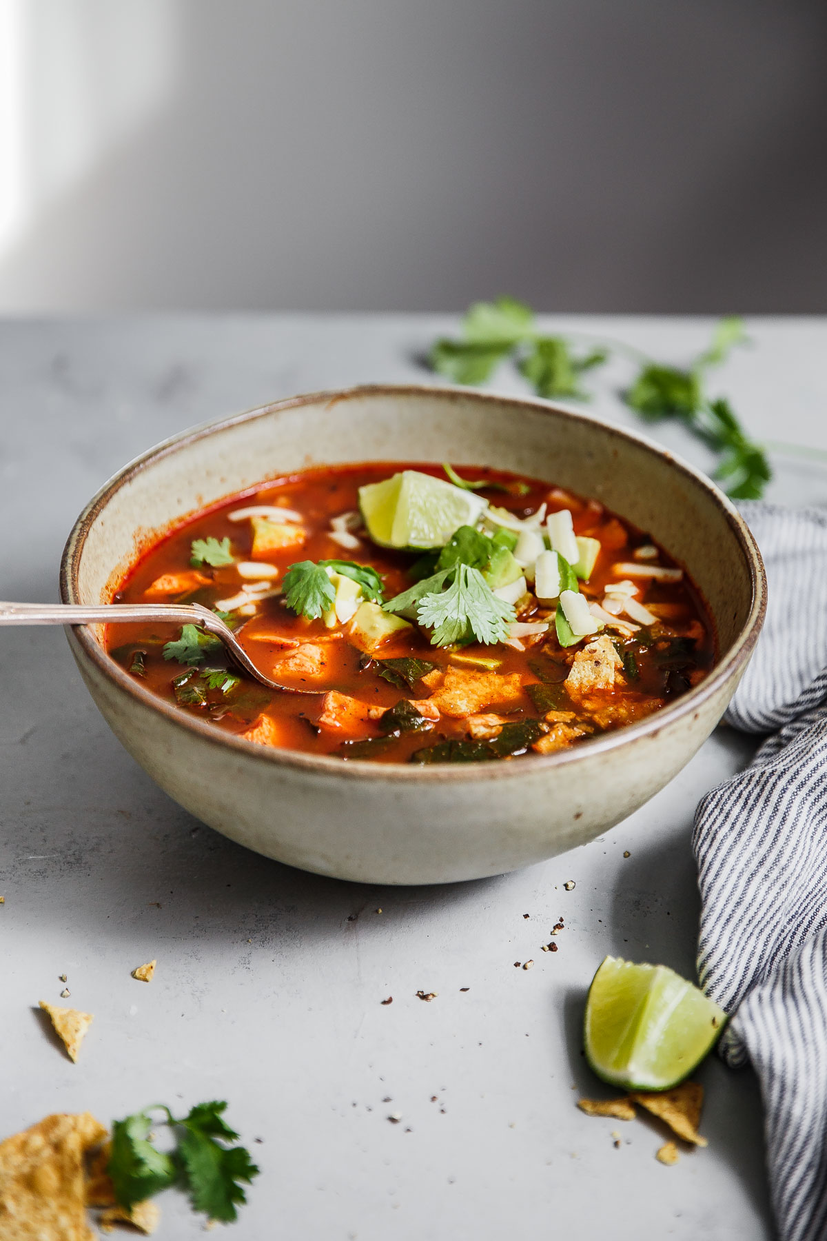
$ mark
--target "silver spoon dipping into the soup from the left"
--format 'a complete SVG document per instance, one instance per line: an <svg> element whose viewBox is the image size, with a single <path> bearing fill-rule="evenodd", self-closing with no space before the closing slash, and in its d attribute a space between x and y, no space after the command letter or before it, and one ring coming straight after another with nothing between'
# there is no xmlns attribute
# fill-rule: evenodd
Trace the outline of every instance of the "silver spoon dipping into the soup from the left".
<svg viewBox="0 0 827 1241"><path fill-rule="evenodd" d="M234 664L254 676L269 690L285 694L324 694L296 685L281 685L255 666L241 642L221 617L201 603L100 603L86 607L78 603L0 603L0 625L4 624L118 624L119 622L157 622L159 624L195 624L214 634L227 648Z"/></svg>

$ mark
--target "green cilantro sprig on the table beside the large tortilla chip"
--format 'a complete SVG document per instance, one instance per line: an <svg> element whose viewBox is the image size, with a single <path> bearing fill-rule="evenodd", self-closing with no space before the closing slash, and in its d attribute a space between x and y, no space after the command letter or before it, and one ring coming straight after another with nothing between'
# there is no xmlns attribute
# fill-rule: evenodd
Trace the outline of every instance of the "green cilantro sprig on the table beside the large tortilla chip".
<svg viewBox="0 0 827 1241"><path fill-rule="evenodd" d="M156 1103L114 1121L108 1172L122 1206L134 1206L146 1198L179 1185L190 1195L196 1211L229 1224L238 1217L237 1204L247 1198L242 1181L250 1184L258 1175L244 1147L233 1145L238 1134L223 1118L224 1102L198 1103L187 1116L176 1119L164 1103ZM166 1119L150 1113L165 1112ZM175 1139L175 1150L164 1154L149 1140L150 1129L166 1124Z"/></svg>

